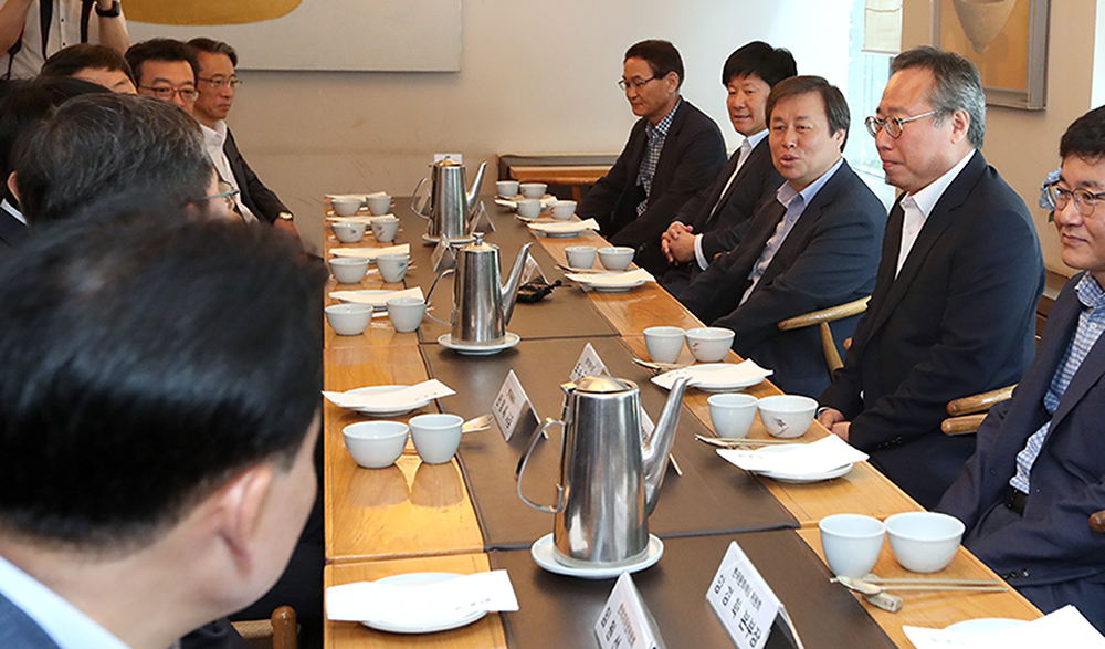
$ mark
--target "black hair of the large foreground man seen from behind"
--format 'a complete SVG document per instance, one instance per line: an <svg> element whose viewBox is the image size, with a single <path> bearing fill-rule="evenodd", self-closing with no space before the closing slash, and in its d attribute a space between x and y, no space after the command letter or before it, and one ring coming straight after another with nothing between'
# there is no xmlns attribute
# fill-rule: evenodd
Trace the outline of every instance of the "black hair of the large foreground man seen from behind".
<svg viewBox="0 0 1105 649"><path fill-rule="evenodd" d="M0 266L0 535L127 556L302 457L325 273L269 229L173 210L95 209Z"/></svg>

